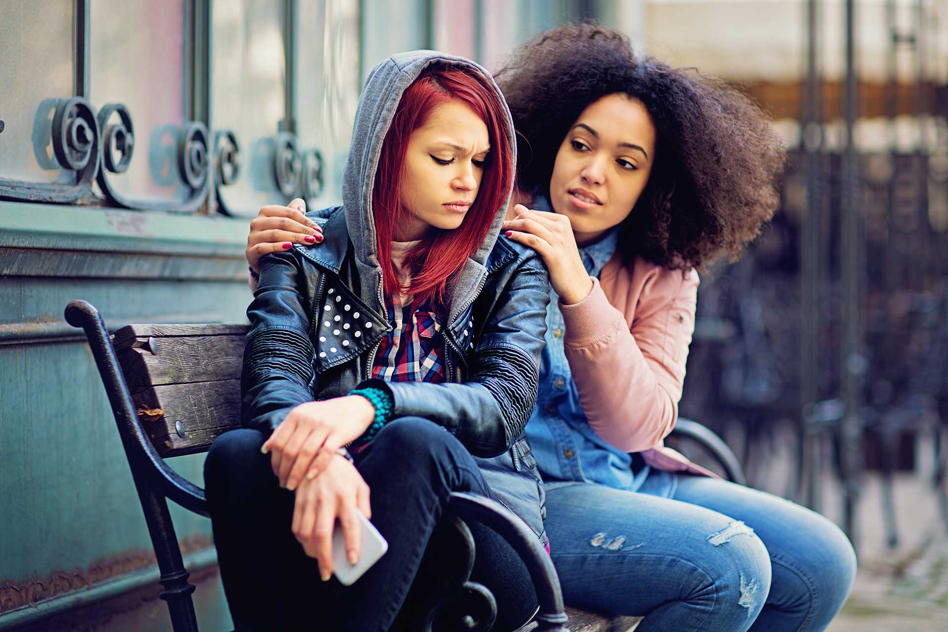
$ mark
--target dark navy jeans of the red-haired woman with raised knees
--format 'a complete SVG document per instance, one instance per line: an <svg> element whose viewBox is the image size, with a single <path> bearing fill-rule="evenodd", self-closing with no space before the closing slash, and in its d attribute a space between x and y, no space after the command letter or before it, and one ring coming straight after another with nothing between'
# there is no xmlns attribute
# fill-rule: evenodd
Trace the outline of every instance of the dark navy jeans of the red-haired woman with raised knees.
<svg viewBox="0 0 948 632"><path fill-rule="evenodd" d="M256 430L232 430L211 444L204 465L221 579L238 632L410 625L421 613L402 605L449 494L493 497L476 462L447 430L418 417L394 420L354 455L371 490L372 522L389 551L352 586L335 577L321 582L316 560L290 531L294 496L280 488L263 444ZM469 527L477 551L471 579L494 591L499 624L524 623L537 605L529 572L498 533ZM427 570L423 585L444 581L438 569Z"/></svg>

